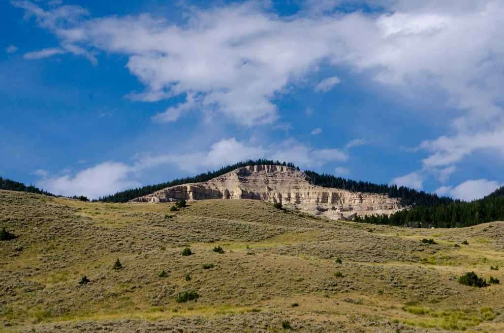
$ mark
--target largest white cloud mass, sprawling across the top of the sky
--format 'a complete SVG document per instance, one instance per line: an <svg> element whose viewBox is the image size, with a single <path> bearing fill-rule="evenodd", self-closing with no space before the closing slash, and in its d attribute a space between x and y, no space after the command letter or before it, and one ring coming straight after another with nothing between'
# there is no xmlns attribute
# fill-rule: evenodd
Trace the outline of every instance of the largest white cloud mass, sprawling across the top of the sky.
<svg viewBox="0 0 504 333"><path fill-rule="evenodd" d="M189 97L188 106L155 120L174 121L196 101L200 110L217 110L245 125L271 123L278 118L273 99L326 60L373 69L373 78L387 85L437 87L448 104L463 111L460 126L473 124L468 117L488 119L501 111L497 68L504 47L495 43L502 37L500 1L470 6L388 1L380 3L388 9L382 15L334 14L329 9L335 3L326 2L308 4L312 10L288 18L245 2L193 9L183 24L148 14L92 19L78 6L43 10L27 1L13 4L52 31L67 52L90 59L95 50L129 56L127 67L146 86L131 96ZM337 82L336 76L325 78L316 90Z"/></svg>

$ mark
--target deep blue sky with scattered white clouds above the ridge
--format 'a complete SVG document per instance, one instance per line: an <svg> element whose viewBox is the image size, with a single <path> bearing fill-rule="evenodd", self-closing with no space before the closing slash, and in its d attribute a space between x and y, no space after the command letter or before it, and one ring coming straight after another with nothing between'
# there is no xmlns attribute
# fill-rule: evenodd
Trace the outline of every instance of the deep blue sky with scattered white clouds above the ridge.
<svg viewBox="0 0 504 333"><path fill-rule="evenodd" d="M98 197L246 158L504 183L500 1L0 3L0 175Z"/></svg>

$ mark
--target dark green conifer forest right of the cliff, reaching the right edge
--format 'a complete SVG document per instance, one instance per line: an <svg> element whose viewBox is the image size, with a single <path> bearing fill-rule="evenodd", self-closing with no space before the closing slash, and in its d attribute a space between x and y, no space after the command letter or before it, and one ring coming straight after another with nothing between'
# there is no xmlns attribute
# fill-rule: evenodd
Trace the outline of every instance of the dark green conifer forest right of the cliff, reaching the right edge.
<svg viewBox="0 0 504 333"><path fill-rule="evenodd" d="M415 206L390 216L355 218L357 222L436 228L466 227L498 220L504 220L504 187L471 202L457 200L435 206Z"/></svg>

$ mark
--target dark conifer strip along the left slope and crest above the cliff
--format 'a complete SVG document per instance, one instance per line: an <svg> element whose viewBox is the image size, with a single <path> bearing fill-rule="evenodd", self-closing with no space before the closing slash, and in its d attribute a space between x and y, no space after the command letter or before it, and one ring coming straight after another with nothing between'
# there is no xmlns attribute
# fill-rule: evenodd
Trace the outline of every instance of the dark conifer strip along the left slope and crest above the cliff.
<svg viewBox="0 0 504 333"><path fill-rule="evenodd" d="M151 193L154 193L156 191L162 190L166 187L170 186L176 186L176 185L182 185L182 184L187 184L187 183L199 183L199 182L206 182L209 181L213 178L222 176L224 174L227 174L228 172L231 172L235 169L242 168L243 166L247 165L284 165L284 166L289 166L290 168L297 168L294 163L292 162L280 162L278 160L272 160L272 159L256 159L256 160L246 160L246 161L241 161L232 165L226 165L220 168L219 170L216 171L209 171L207 173L199 174L197 176L193 177L185 177L185 178L180 178L180 179L175 179L171 182L166 182L166 183L160 183L160 184L155 184L155 185L147 185L143 187L139 187L136 189L130 189L130 190L125 190L125 191L120 191L117 192L113 195L105 196L105 197L100 197L98 200L94 201L103 201L103 202L128 202L132 199L148 195Z"/></svg>

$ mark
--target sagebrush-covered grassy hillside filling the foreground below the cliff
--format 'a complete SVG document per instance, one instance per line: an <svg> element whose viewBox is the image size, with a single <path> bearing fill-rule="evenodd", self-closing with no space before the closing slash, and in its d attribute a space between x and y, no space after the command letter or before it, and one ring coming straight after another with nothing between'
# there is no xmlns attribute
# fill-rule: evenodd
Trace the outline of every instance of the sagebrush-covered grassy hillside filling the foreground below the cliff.
<svg viewBox="0 0 504 333"><path fill-rule="evenodd" d="M504 222L418 229L259 200L170 205L0 191L0 227L17 235L0 241L0 331L504 331L502 285L457 282L503 281L490 266L504 265Z"/></svg>

